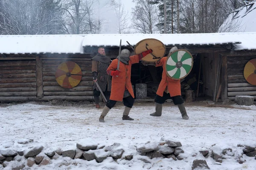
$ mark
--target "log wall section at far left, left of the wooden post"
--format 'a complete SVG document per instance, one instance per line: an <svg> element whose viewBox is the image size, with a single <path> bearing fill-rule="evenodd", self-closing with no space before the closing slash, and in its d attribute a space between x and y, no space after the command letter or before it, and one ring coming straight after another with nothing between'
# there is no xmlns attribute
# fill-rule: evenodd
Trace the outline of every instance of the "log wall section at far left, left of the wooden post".
<svg viewBox="0 0 256 170"><path fill-rule="evenodd" d="M0 101L6 101L7 98L35 97L35 68L35 59L0 60Z"/></svg>

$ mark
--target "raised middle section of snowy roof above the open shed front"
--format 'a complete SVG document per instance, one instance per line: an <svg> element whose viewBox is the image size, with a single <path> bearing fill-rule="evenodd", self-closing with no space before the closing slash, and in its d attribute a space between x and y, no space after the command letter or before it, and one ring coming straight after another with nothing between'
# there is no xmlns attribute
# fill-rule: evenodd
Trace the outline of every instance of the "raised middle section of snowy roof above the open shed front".
<svg viewBox="0 0 256 170"><path fill-rule="evenodd" d="M83 46L119 46L122 39L122 46L128 46L128 41L132 46L140 40L155 38L165 45L217 45L241 43L239 37L223 33L207 34L88 34L84 36Z"/></svg>

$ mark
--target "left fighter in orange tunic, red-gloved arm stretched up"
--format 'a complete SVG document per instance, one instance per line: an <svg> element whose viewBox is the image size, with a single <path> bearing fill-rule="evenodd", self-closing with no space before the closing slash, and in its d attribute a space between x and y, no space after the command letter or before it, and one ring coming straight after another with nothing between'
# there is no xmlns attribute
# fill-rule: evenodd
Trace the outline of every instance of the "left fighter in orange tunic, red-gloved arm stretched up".
<svg viewBox="0 0 256 170"><path fill-rule="evenodd" d="M122 120L134 120L128 116L134 104L134 92L131 86L131 65L139 63L143 57L151 52L152 50L149 49L139 55L130 56L130 51L123 49L120 56L112 61L107 69L107 73L112 76L111 95L110 100L105 105L99 117L100 122L104 122L105 116L108 114L109 110L114 107L116 101L123 101L125 105ZM119 70L117 70L118 60L120 60Z"/></svg>

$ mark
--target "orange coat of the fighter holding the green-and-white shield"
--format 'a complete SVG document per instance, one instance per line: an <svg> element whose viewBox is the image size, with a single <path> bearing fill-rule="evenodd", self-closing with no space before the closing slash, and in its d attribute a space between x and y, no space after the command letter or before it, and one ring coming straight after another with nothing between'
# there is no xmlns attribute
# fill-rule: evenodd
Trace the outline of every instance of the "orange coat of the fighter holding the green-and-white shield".
<svg viewBox="0 0 256 170"><path fill-rule="evenodd" d="M174 80L172 78L169 78L166 74L166 60L167 57L163 57L160 59L160 61L158 61L159 63L157 62L156 64L157 67L163 66L162 80L158 86L157 95L163 97L163 92L166 89L166 86L171 97L181 95L180 80Z"/></svg>

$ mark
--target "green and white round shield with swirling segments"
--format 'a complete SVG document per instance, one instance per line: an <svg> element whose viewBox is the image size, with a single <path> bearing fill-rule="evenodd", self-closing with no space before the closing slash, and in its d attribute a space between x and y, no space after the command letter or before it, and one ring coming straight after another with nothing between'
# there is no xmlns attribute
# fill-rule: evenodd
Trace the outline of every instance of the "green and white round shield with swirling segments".
<svg viewBox="0 0 256 170"><path fill-rule="evenodd" d="M166 74L168 77L179 80L186 77L193 67L193 57L190 52L178 49L166 60Z"/></svg>

